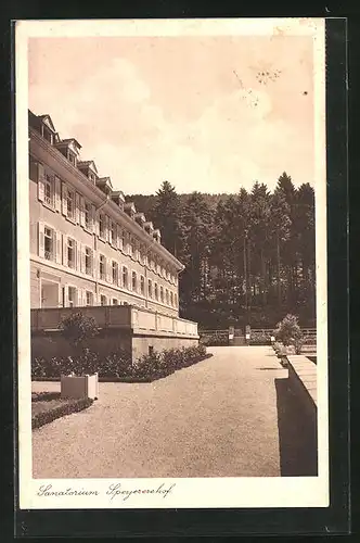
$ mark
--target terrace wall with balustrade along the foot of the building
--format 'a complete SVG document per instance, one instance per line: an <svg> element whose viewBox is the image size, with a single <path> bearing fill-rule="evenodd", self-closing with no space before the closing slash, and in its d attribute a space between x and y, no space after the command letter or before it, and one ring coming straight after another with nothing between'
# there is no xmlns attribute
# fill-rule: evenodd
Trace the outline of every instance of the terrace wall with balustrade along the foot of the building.
<svg viewBox="0 0 360 543"><path fill-rule="evenodd" d="M95 319L99 334L87 346L100 356L124 350L134 359L149 354L150 348L163 351L198 344L196 323L130 305L31 310L31 358L73 354L57 327L77 312Z"/></svg>

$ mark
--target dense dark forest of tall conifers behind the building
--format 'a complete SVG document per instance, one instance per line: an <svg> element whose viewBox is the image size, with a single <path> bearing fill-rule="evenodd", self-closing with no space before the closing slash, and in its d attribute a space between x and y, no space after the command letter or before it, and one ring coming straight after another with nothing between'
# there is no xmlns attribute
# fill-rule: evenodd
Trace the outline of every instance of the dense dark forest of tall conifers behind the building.
<svg viewBox="0 0 360 543"><path fill-rule="evenodd" d="M185 265L180 316L201 329L274 327L286 313L316 326L314 190L283 173L274 190L254 182L234 194L178 194L164 181L128 200L162 230Z"/></svg>

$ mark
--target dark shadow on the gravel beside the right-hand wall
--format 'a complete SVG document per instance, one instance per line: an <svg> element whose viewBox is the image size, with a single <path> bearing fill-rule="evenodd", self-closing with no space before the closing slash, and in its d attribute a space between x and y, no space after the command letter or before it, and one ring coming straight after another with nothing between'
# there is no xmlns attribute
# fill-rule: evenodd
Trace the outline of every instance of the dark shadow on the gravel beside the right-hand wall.
<svg viewBox="0 0 360 543"><path fill-rule="evenodd" d="M308 414L290 390L288 379L275 379L280 469L282 476L318 475L317 412Z"/></svg>

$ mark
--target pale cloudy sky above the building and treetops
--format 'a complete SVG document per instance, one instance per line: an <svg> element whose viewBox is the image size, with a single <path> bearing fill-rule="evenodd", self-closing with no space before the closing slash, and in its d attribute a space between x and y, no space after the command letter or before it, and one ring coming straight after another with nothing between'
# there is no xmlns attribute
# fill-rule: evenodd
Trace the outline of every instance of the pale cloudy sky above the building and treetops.
<svg viewBox="0 0 360 543"><path fill-rule="evenodd" d="M313 185L307 36L30 38L29 108L125 193Z"/></svg>

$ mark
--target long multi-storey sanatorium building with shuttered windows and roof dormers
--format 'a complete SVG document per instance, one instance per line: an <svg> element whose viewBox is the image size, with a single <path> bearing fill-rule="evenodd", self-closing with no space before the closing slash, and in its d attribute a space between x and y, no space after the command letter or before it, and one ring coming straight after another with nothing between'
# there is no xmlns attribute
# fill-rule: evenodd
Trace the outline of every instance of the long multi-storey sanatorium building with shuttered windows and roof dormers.
<svg viewBox="0 0 360 543"><path fill-rule="evenodd" d="M125 305L178 317L183 265L80 143L29 112L31 308Z"/></svg>

